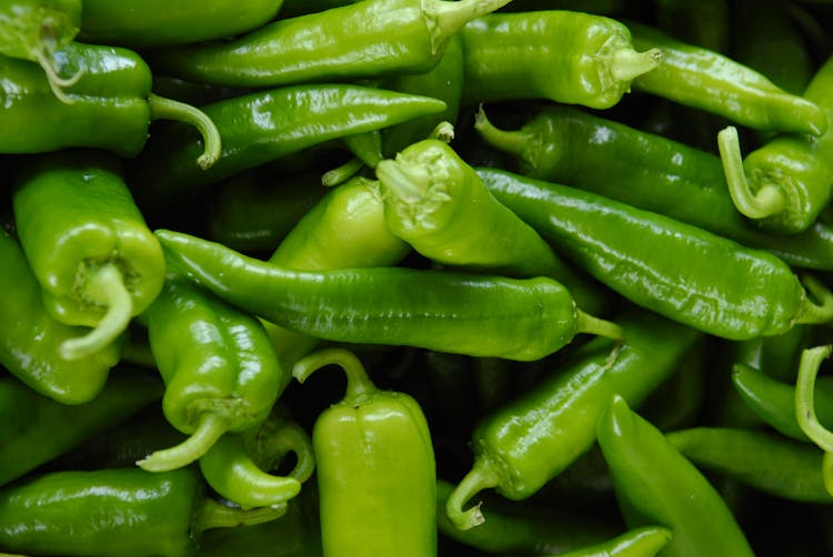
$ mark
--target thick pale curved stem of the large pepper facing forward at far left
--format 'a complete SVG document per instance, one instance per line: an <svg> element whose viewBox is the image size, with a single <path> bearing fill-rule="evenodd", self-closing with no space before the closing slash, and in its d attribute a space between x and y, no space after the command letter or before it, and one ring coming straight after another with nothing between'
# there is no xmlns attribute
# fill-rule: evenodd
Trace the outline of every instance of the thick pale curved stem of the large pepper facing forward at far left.
<svg viewBox="0 0 833 557"><path fill-rule="evenodd" d="M83 286L84 300L107 307L98 325L84 336L70 338L59 346L64 359L79 359L100 351L118 337L130 323L133 301L119 269L108 263L96 270Z"/></svg>

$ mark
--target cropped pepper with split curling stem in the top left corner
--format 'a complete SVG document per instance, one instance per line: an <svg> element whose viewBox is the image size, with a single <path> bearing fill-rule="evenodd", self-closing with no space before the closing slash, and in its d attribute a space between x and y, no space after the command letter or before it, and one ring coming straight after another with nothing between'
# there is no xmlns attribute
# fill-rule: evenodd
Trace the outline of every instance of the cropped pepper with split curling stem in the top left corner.
<svg viewBox="0 0 833 557"><path fill-rule="evenodd" d="M62 102L72 102L63 88L81 78L61 78L53 59L78 34L81 0L8 0L0 6L0 54L38 62L49 87Z"/></svg>

